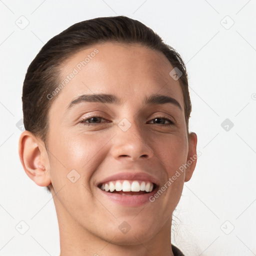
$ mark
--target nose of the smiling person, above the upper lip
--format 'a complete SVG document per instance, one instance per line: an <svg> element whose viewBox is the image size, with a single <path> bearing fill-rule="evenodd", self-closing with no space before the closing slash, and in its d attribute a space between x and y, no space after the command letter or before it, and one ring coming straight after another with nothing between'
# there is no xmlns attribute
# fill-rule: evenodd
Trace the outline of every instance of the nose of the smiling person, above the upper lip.
<svg viewBox="0 0 256 256"><path fill-rule="evenodd" d="M111 147L111 154L116 160L136 161L149 159L154 155L153 150L148 145L148 136L138 124L130 123L127 130L120 127L116 127L116 135L113 137Z"/></svg>

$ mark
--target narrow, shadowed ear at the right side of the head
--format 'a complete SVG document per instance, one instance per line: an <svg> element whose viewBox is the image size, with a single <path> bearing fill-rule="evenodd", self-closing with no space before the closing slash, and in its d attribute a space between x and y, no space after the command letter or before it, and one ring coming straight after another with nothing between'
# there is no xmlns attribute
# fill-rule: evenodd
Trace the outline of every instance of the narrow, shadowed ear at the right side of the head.
<svg viewBox="0 0 256 256"><path fill-rule="evenodd" d="M197 136L194 132L190 132L188 134L188 154L186 159L186 163L188 167L185 170L185 182L191 178L195 168L195 164L197 160L196 144L197 144Z"/></svg>

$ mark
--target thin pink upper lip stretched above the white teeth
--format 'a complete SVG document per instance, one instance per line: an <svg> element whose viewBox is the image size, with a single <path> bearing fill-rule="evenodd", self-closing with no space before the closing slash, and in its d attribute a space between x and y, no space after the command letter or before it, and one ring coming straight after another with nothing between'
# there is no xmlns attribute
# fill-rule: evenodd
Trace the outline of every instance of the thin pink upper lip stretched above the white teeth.
<svg viewBox="0 0 256 256"><path fill-rule="evenodd" d="M109 182L109 181L112 181L112 180L123 180L123 179L126 179L126 180L145 180L145 181L150 181L151 183L154 183L154 184L158 184L159 181L149 175L148 173L146 172L142 172L142 171L137 171L137 172L134 172L134 170L132 172L118 172L118 173L115 173L111 176L108 176L104 179L102 179L101 181L99 181L97 183L97 185L101 185L102 183L106 183L106 182Z"/></svg>

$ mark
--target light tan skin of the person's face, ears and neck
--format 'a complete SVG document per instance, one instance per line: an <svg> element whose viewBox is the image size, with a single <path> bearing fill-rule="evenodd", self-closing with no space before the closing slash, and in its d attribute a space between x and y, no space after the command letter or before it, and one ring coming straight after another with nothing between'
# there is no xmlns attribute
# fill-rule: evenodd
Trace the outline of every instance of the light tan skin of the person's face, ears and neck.
<svg viewBox="0 0 256 256"><path fill-rule="evenodd" d="M53 185L61 256L173 255L172 212L196 160L154 202L138 207L102 200L96 183L139 169L161 186L196 155L197 138L194 132L187 135L179 81L169 75L173 66L161 52L112 42L73 55L62 66L62 78L95 48L95 57L55 96L48 113L48 151L38 137L23 131L21 163L37 185ZM115 94L121 104L81 102L66 110L77 96L93 93ZM175 98L182 109L170 103L145 105L144 96L155 93ZM90 114L103 119L90 126L79 122ZM154 122L157 117L175 123ZM122 118L131 124L125 132L118 126ZM71 169L80 175L74 183L66 176ZM126 234L118 228L123 221L131 227Z"/></svg>

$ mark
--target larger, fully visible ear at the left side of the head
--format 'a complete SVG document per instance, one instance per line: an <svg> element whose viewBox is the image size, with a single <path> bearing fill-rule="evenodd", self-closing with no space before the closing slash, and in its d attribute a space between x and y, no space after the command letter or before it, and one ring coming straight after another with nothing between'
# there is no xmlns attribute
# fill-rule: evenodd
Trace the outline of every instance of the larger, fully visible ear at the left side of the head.
<svg viewBox="0 0 256 256"><path fill-rule="evenodd" d="M18 142L18 153L22 166L29 178L39 186L51 183L49 159L44 143L30 131L24 130Z"/></svg>

